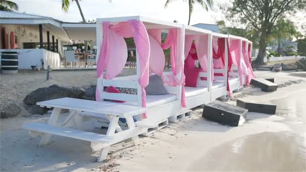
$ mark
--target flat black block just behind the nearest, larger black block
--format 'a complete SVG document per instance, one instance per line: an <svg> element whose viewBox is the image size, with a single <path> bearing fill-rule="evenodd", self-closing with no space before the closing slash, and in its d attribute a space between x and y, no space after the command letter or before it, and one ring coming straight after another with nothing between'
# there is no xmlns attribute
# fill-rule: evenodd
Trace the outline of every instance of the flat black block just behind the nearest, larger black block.
<svg viewBox="0 0 306 172"><path fill-rule="evenodd" d="M249 110L249 112L258 112L263 114L275 114L276 105L268 102L243 101L237 99L237 106Z"/></svg>

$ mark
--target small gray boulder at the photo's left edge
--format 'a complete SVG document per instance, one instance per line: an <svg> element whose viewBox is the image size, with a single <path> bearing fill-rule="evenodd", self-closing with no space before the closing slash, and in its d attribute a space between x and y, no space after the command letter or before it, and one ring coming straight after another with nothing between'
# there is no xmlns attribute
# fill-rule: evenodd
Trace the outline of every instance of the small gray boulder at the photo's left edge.
<svg viewBox="0 0 306 172"><path fill-rule="evenodd" d="M16 117L20 110L20 107L14 103L0 102L0 118Z"/></svg>

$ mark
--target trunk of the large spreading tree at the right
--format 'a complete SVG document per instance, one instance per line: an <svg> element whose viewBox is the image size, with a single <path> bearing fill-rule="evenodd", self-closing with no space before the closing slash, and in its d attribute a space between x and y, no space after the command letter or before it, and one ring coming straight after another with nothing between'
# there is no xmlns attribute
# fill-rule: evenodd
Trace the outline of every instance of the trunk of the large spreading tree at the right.
<svg viewBox="0 0 306 172"><path fill-rule="evenodd" d="M264 64L264 58L266 56L266 48L267 48L267 32L266 29L262 29L260 39L259 39L259 50L258 55L256 57L256 60L254 60L254 63L256 65L262 65Z"/></svg>

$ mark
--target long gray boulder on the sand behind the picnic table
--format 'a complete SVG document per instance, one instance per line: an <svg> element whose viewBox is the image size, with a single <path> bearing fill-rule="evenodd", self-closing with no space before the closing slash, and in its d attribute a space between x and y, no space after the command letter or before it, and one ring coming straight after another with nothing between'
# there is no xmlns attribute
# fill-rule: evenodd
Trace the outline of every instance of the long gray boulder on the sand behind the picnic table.
<svg viewBox="0 0 306 172"><path fill-rule="evenodd" d="M85 93L82 89L69 89L65 87L60 87L58 85L51 85L48 88L39 88L33 91L32 93L27 95L23 101L27 105L36 105L37 102L65 97L80 99L84 95Z"/></svg>

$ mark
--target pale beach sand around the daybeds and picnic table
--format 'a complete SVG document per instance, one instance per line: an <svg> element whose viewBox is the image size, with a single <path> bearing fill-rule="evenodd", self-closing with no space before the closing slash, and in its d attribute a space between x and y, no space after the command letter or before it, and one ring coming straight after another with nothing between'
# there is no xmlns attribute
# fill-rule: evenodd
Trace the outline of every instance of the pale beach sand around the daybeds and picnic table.
<svg viewBox="0 0 306 172"><path fill-rule="evenodd" d="M127 69L129 70L129 69ZM130 71L132 72L132 71ZM128 71L126 71L128 73ZM305 171L306 170L306 82L295 80L292 72L256 71L260 77L276 77L283 88L273 93L247 88L235 93L231 101L270 101L277 105L276 115L249 113L247 122L230 127L207 121L202 110L194 109L191 118L170 123L150 137L141 137L140 145L129 140L113 145L104 162L96 162L89 142L52 136L49 145L38 147L24 123L48 120L50 114L1 119L1 171ZM67 87L95 84L95 71L54 71L45 81L45 73L0 75L1 100L16 102L31 91L51 84ZM61 119L67 114L61 116ZM105 133L97 120L86 124L88 131Z"/></svg>

